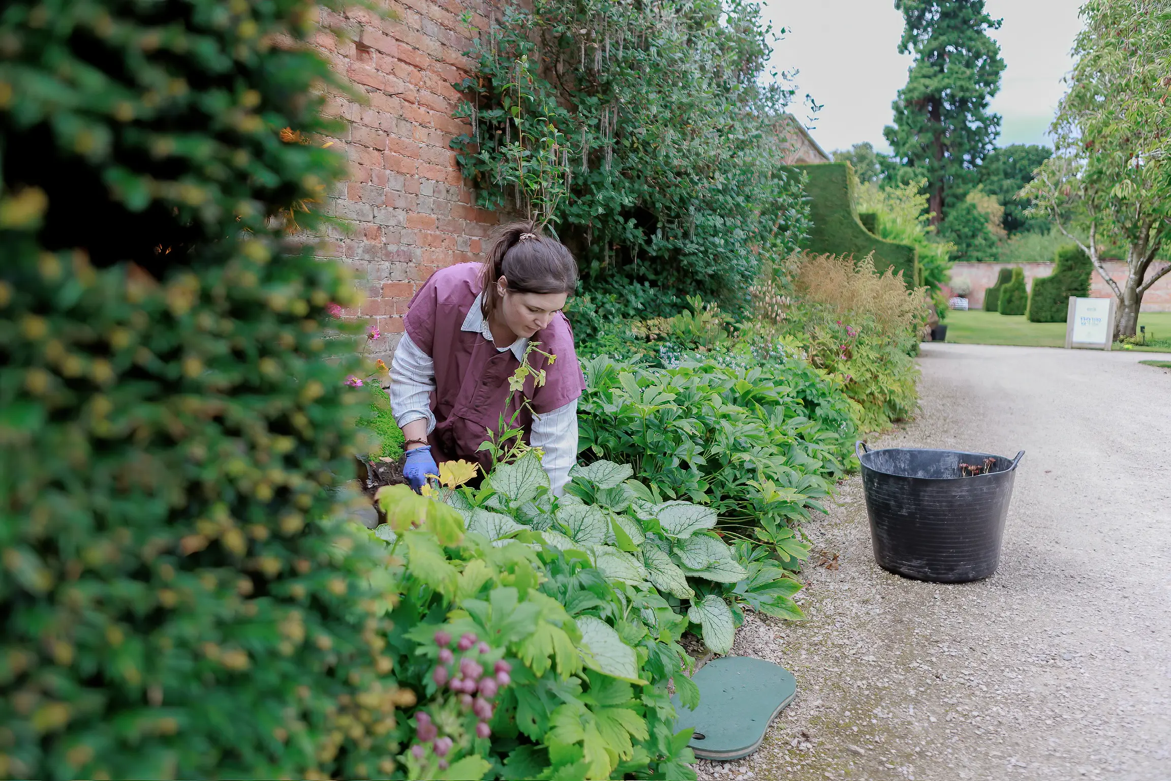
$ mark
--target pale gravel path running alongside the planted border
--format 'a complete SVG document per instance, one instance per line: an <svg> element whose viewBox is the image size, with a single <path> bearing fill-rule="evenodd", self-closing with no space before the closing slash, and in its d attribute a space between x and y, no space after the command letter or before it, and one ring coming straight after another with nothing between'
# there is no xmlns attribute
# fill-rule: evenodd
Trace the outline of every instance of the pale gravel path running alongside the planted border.
<svg viewBox="0 0 1171 781"><path fill-rule="evenodd" d="M810 564L837 562L802 574L809 621L749 618L733 650L793 670L797 700L700 777L1171 779L1171 372L1151 357L924 345L922 413L877 444L1027 451L999 573L879 569L844 482L807 526Z"/></svg>

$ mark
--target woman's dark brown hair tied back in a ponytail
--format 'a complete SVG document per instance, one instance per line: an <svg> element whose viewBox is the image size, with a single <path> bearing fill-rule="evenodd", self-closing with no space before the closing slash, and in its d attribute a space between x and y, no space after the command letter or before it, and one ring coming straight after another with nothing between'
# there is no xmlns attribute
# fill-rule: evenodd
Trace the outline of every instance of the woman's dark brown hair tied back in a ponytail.
<svg viewBox="0 0 1171 781"><path fill-rule="evenodd" d="M569 293L577 287L577 262L563 244L541 235L533 222L509 222L494 232L481 280L487 317L500 306L497 280L508 280L516 293Z"/></svg>

